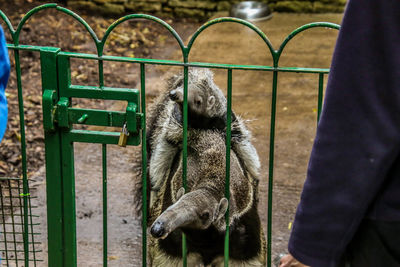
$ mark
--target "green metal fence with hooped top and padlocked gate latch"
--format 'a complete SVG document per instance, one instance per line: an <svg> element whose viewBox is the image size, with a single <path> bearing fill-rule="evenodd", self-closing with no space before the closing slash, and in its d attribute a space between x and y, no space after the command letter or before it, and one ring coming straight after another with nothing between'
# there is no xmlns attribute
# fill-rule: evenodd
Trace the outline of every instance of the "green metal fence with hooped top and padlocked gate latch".
<svg viewBox="0 0 400 267"><path fill-rule="evenodd" d="M55 9L59 12L67 14L80 24L82 24L90 34L96 49L96 54L82 54L64 52L55 47L41 47L20 45L19 36L21 29L26 21L43 9ZM323 99L323 80L328 74L329 69L322 68L296 68L296 67L281 67L279 60L288 42L300 32L310 28L324 27L339 29L339 26L333 23L311 23L304 25L293 31L275 50L265 34L255 25L240 19L235 18L218 18L207 22L201 26L190 39L188 45L185 45L181 37L175 30L163 20L150 15L135 14L125 16L107 29L104 37L99 39L92 28L76 13L57 6L56 4L45 4L29 11L20 21L17 28L14 29L7 16L0 11L0 17L7 25L8 31L12 36L12 44L8 44L8 48L14 51L15 71L17 74L19 110L20 110L20 128L21 128L21 147L22 147L22 173L21 180L16 179L14 182L6 180L5 184L0 183L1 206L3 216L0 218L2 222L2 239L0 245L3 244L6 253L6 259L11 260L15 257L15 261L24 260L25 265L29 266L32 261L36 264L38 259L35 255L35 240L34 229L35 224L32 222L31 206L29 205L29 182L26 171L26 141L24 131L24 110L22 98L22 83L20 69L20 51L36 51L40 53L41 68L42 68L42 89L43 89L43 128L45 130L45 148L46 148L46 184L47 184L47 213L48 216L48 265L49 266L76 266L77 265L77 244L76 244L76 208L75 208L75 176L74 176L74 142L99 143L102 144L102 163L103 163L103 265L107 266L107 145L115 145L118 143L119 133L102 132L75 129L73 125L98 125L111 127L126 127L129 132L127 145L140 145L142 148L142 182L143 182L143 207L142 207L142 266L146 266L147 260L147 212L146 206L146 66L148 65L167 65L178 66L184 72L184 109L183 109L183 184L186 187L187 173L187 127L188 127L188 108L187 108L187 90L188 90L188 70L190 67L223 69L227 75L227 141L226 146L230 148L230 125L231 125L231 103L232 103L232 77L237 70L254 70L272 72L273 80L270 88L266 91L272 92L271 99L271 114L270 114L270 140L269 140L269 174L268 174L268 209L267 213L267 266L271 266L271 240L272 240L272 189L273 189L273 174L274 174L274 143L275 143L275 118L276 118L276 101L278 90L278 74L280 72L293 73L310 73L318 76L318 119L322 107ZM178 43L181 53L181 61L172 60L156 60L143 58L130 58L118 56L103 55L104 45L110 33L121 23L128 20L147 20L153 21L167 29L173 38ZM197 37L208 27L218 23L239 23L254 31L268 47L273 58L272 66L264 65L234 65L234 64L215 64L204 62L189 62L189 54ZM97 86L82 86L71 84L71 67L70 60L74 58L95 60L98 62L98 85ZM140 89L121 89L110 88L104 86L103 63L105 61L125 62L137 64L140 66ZM126 112L91 110L71 107L72 98L93 98L104 100L123 100L127 101ZM229 199L229 166L230 166L230 149L226 150L226 197ZM8 190L8 191L7 191ZM12 196L13 190L18 193ZM4 195L4 192L8 195ZM16 197L18 204L11 201L11 198ZM10 200L8 200L10 198ZM8 204L6 204L8 203ZM8 206L7 206L8 205ZM14 206L13 206L14 205ZM8 208L7 208L8 207ZM19 210L19 212L18 212ZM229 210L226 214L228 220ZM11 224L5 221L5 218L10 216ZM18 218L15 219L15 218ZM228 224L227 224L228 225ZM11 227L11 228L10 228ZM228 226L229 227L229 226ZM228 266L229 260L229 229L226 229L225 234L225 266ZM11 235L11 238L10 238ZM16 236L22 235L22 241ZM183 265L186 266L186 244L183 236ZM19 244L23 244L23 250ZM10 245L11 244L11 245ZM0 247L1 248L1 247ZM22 253L23 254L20 254ZM14 256L10 256L10 255ZM17 259L18 257L18 259ZM17 265L18 266L18 265ZM36 266L36 265L35 265Z"/></svg>

